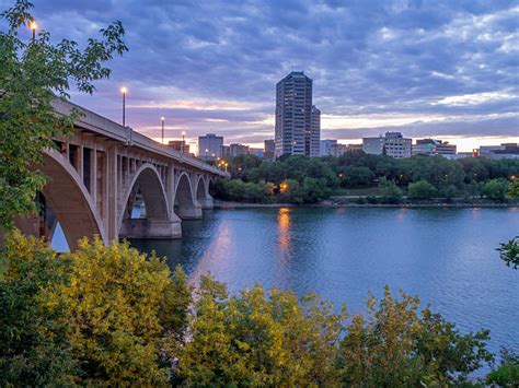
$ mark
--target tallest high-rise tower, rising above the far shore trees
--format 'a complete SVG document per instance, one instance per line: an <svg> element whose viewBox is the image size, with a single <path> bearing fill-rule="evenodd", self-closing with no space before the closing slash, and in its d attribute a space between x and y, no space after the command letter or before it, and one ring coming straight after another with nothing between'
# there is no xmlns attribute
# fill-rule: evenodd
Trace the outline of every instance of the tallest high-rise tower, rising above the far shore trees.
<svg viewBox="0 0 519 388"><path fill-rule="evenodd" d="M276 157L319 156L320 130L315 137L312 128L312 80L292 71L276 85Z"/></svg>

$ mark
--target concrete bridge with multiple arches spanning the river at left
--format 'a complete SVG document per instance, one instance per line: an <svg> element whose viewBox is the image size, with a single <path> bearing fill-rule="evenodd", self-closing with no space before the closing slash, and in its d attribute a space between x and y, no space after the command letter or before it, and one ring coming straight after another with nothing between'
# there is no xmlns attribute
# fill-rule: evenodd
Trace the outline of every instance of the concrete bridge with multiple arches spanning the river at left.
<svg viewBox="0 0 519 388"><path fill-rule="evenodd" d="M43 211L16 220L23 233L50 240L59 222L70 249L83 236L178 238L182 220L212 209L209 184L227 173L71 103L55 108L83 116L44 153Z"/></svg>

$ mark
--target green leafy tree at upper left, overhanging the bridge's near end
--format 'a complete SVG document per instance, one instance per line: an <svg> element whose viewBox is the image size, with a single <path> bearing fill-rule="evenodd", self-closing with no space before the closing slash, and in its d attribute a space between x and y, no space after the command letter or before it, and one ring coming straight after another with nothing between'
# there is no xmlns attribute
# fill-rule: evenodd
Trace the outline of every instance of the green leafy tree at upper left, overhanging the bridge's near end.
<svg viewBox="0 0 519 388"><path fill-rule="evenodd" d="M101 30L102 39L89 39L81 50L73 40L54 45L47 32L24 42L19 30L34 19L33 4L18 0L1 16L8 26L0 32L0 228L11 230L14 215L36 211L36 192L45 177L34 166L42 151L54 146L53 139L67 134L79 113L57 116L56 98L68 99L68 91L92 93L93 81L108 78L103 63L127 47L120 22Z"/></svg>

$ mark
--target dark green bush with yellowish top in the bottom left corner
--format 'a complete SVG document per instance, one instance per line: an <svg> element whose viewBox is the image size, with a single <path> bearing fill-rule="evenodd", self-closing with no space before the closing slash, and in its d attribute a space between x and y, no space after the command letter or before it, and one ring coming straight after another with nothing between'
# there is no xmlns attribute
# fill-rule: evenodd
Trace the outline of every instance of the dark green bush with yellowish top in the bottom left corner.
<svg viewBox="0 0 519 388"><path fill-rule="evenodd" d="M0 386L66 386L74 362L66 304L54 298L66 266L43 240L13 232L0 251Z"/></svg>

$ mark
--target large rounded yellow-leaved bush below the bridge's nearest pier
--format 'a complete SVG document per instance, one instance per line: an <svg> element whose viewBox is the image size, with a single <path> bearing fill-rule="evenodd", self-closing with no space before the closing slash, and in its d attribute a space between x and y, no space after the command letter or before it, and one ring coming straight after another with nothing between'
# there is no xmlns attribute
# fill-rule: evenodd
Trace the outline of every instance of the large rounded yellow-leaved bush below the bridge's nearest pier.
<svg viewBox="0 0 519 388"><path fill-rule="evenodd" d="M67 306L72 354L81 384L163 385L161 348L187 322L191 291L181 271L127 243L79 242L65 255L68 282L56 293ZM175 315L175 316L173 316Z"/></svg>

